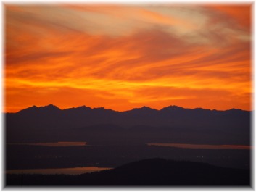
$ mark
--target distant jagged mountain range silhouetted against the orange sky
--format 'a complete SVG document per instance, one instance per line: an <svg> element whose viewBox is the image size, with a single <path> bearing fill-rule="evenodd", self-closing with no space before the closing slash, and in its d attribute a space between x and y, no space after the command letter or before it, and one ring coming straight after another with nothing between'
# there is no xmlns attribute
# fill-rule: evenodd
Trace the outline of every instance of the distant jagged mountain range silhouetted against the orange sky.
<svg viewBox="0 0 256 192"><path fill-rule="evenodd" d="M29 107L6 114L7 143L212 143L249 145L251 112L141 107L126 112L77 107ZM107 125L107 127L106 127Z"/></svg>

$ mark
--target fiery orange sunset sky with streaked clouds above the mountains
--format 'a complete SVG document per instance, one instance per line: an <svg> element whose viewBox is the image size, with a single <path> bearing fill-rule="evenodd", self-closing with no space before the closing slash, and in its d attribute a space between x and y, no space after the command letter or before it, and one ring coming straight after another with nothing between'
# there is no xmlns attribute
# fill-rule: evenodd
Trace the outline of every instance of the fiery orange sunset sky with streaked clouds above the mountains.
<svg viewBox="0 0 256 192"><path fill-rule="evenodd" d="M5 8L5 112L251 110L248 4Z"/></svg>

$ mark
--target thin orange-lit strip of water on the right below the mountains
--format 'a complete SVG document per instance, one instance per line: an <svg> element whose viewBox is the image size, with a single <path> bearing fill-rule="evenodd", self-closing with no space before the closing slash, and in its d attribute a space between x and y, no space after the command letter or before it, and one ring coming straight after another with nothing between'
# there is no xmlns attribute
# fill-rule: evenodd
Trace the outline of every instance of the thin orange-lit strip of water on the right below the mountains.
<svg viewBox="0 0 256 192"><path fill-rule="evenodd" d="M197 145L184 143L148 143L148 146L169 146L185 149L251 149L251 146L233 146L233 145Z"/></svg>

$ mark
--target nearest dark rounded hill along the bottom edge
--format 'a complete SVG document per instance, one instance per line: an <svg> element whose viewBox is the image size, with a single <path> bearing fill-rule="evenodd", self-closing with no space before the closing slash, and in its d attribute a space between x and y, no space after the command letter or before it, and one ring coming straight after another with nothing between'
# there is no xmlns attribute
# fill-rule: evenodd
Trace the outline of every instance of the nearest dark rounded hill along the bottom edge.
<svg viewBox="0 0 256 192"><path fill-rule="evenodd" d="M146 159L83 175L7 175L10 185L169 185L249 186L249 170L197 162Z"/></svg>

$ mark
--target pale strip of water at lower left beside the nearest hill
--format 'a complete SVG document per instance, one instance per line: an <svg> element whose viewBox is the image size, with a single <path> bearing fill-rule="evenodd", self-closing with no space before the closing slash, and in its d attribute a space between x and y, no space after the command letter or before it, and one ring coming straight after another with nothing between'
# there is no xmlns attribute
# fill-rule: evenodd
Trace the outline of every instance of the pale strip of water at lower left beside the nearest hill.
<svg viewBox="0 0 256 192"><path fill-rule="evenodd" d="M9 174L66 174L66 175L80 175L88 172L97 172L102 170L110 170L108 167L74 167L61 169L36 169L36 170L7 170Z"/></svg>

